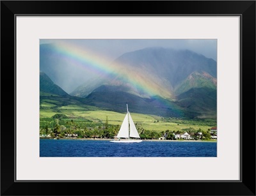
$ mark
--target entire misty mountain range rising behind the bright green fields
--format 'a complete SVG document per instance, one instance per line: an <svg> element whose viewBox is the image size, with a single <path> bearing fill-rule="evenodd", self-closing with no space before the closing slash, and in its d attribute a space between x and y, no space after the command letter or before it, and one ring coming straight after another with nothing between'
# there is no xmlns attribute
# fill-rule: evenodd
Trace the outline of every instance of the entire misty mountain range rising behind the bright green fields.
<svg viewBox="0 0 256 196"><path fill-rule="evenodd" d="M54 77L63 84L56 75L68 77L68 68L61 57L54 59L58 69L60 64L63 66L61 72L49 66L54 47L47 47L51 52L42 50L44 61L40 61L40 70L44 74L40 73L40 91L65 96L67 93L54 80L49 85L49 79ZM116 112L124 112L125 103L129 103L131 112L141 114L216 117L217 68L213 59L191 50L154 47L127 52L109 67L116 69L83 82L69 93L70 97L78 96L90 105ZM49 79L47 75L51 75Z"/></svg>

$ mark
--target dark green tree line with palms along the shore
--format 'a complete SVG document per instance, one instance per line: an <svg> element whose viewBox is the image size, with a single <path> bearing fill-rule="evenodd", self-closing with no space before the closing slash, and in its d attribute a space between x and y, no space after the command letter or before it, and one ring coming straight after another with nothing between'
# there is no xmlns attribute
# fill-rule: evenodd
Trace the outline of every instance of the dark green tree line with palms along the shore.
<svg viewBox="0 0 256 196"><path fill-rule="evenodd" d="M67 138L67 137L76 137L79 139L88 138L101 138L101 139L113 139L118 131L120 130L120 125L113 125L108 123L108 116L106 117L106 122L102 125L95 126L81 126L79 123L74 122L72 119L66 121L64 124L60 124L60 119L54 119L54 124L50 128L48 125L40 129L40 135L49 135L51 138ZM195 130L194 128L186 128L181 131L171 131L165 130L162 132L157 132L155 130L145 130L144 128L137 128L138 133L141 139L159 139L160 137L165 137L166 140L176 140L175 134L188 132L193 134L193 139L211 139L211 134L209 130L207 132L201 130ZM196 133L202 133L202 136L199 137Z"/></svg>

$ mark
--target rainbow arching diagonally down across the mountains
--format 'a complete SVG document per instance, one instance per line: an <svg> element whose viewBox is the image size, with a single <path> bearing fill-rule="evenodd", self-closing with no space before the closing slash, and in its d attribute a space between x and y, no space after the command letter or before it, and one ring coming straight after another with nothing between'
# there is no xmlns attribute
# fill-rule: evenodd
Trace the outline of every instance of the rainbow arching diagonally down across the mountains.
<svg viewBox="0 0 256 196"><path fill-rule="evenodd" d="M54 49L56 55L61 56L65 61L72 63L74 66L83 68L86 72L96 73L99 77L115 75L118 78L122 78L125 84L129 84L132 88L139 89L149 96L161 95L168 99L172 97L170 89L164 87L164 84L159 84L145 70L127 70L125 64L113 63L111 59L102 54L95 54L90 49L67 43L67 41L60 40ZM145 74L138 74L138 72L145 72ZM127 73L131 73L132 77ZM166 102L161 101L159 105L166 105Z"/></svg>

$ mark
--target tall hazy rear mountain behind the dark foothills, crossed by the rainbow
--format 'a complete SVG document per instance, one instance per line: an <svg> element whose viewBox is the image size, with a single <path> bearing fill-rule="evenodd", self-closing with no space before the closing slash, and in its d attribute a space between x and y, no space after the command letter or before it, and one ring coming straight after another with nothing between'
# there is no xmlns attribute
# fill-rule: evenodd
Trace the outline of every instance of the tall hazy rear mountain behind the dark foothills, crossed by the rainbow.
<svg viewBox="0 0 256 196"><path fill-rule="evenodd" d="M210 62L210 63L207 63ZM175 89L180 83L193 72L208 73L216 77L216 61L208 59L201 54L196 54L191 50L164 49L161 47L151 47L132 52L127 52L118 57L114 64L123 66L126 72L119 76L111 75L109 80L98 82L97 86L119 84L128 86L131 84L132 91L141 97L163 96L173 100L175 98ZM131 75L128 80L127 75ZM153 93L145 92L145 89L138 86L150 86L154 89ZM95 85L95 83L93 83ZM84 86L84 87L83 87ZM86 97L92 91L81 93L83 89L90 88L90 84L82 84L72 95ZM80 91L80 92L79 92Z"/></svg>

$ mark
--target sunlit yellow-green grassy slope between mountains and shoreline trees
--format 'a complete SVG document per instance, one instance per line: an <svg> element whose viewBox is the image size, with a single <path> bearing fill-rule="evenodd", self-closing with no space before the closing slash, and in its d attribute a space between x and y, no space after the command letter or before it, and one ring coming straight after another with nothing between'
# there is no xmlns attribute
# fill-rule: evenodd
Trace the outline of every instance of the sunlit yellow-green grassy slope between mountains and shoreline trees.
<svg viewBox="0 0 256 196"><path fill-rule="evenodd" d="M81 128L103 126L108 118L108 124L121 125L125 117L124 112L102 110L86 105L76 97L40 96L40 128L48 126L53 128L56 119L60 124L74 121ZM216 126L216 119L182 119L177 117L161 117L131 112L136 127L144 130L162 132L172 130L177 132L191 128L193 130L207 131Z"/></svg>

